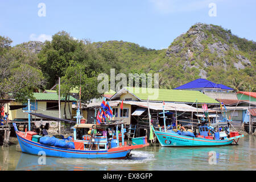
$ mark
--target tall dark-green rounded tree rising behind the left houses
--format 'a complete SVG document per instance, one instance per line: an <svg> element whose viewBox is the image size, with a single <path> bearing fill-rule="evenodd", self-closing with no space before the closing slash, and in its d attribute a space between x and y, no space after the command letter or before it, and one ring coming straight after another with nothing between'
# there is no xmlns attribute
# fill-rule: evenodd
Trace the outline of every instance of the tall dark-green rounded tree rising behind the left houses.
<svg viewBox="0 0 256 182"><path fill-rule="evenodd" d="M52 36L52 41L46 41L40 51L39 65L44 77L47 79L47 87L56 83L59 77L65 75L65 70L74 61L81 50L82 41L75 40L65 31L57 32Z"/></svg>

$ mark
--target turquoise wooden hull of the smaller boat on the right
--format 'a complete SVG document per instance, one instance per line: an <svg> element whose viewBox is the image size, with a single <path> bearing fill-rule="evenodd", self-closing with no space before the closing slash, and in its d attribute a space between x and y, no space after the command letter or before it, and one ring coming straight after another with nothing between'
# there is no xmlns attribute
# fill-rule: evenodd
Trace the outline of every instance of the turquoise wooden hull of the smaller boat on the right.
<svg viewBox="0 0 256 182"><path fill-rule="evenodd" d="M205 138L186 137L183 135L172 134L163 131L155 131L155 135L158 138L158 141L162 147L225 146L228 144L232 144L234 139L239 139L243 137L243 135L238 135L236 137L228 138L225 140L213 140Z"/></svg>

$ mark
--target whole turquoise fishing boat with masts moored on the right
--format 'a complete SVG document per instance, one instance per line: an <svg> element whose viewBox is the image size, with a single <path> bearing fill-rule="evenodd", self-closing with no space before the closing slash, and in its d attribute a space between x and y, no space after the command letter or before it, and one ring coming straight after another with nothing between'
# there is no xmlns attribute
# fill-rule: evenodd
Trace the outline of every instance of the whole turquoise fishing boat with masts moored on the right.
<svg viewBox="0 0 256 182"><path fill-rule="evenodd" d="M223 104L221 104L222 110ZM162 147L197 147L197 146L225 146L234 143L238 143L238 140L243 137L237 131L229 132L229 125L232 120L227 119L226 111L222 110L223 121L218 123L210 123L208 115L208 109L204 109L204 115L207 119L203 118L203 122L199 123L199 134L194 135L191 132L177 132L179 130L166 129L166 117L164 118L164 131L156 131L151 125L158 141ZM163 105L163 115L164 111ZM177 124L176 124L177 126ZM177 127L176 127L177 128ZM220 130L221 128L221 130ZM217 130L217 131L216 131ZM184 134L183 134L184 133Z"/></svg>

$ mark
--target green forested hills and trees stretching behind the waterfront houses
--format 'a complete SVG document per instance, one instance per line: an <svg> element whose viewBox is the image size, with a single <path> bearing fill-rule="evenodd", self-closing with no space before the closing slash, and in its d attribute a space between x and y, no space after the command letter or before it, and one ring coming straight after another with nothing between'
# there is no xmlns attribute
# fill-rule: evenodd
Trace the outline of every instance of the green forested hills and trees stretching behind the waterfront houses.
<svg viewBox="0 0 256 182"><path fill-rule="evenodd" d="M75 40L64 31L57 32L51 42L45 43L28 42L10 47L11 40L2 36L0 40L7 45L0 49L2 63L11 56L15 63L42 72L44 89L51 88L61 77L64 88L67 87L65 96L70 87L80 84L74 80L81 77L87 83L84 98L96 96L92 88L97 86L97 75L109 75L110 68L115 68L116 74L159 73L160 88L172 89L196 78L206 78L236 90L249 91L250 86L256 92L256 43L213 24L196 23L167 49L160 50L115 40L90 43Z"/></svg>

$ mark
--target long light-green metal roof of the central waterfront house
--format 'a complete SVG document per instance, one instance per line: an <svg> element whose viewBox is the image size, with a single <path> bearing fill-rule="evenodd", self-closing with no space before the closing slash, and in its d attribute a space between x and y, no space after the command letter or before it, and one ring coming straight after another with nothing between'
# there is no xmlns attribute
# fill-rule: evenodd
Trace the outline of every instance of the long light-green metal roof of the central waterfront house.
<svg viewBox="0 0 256 182"><path fill-rule="evenodd" d="M149 98L151 101L167 101L167 102L187 102L187 103L201 103L201 104L219 104L220 102L196 90L171 90L171 89L155 89L147 88L146 93L142 92L142 88L126 87L125 88L140 100L147 100L148 96L153 96L154 93L157 98ZM158 93L157 93L158 92Z"/></svg>

